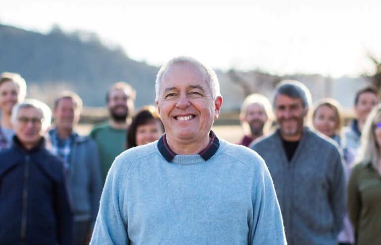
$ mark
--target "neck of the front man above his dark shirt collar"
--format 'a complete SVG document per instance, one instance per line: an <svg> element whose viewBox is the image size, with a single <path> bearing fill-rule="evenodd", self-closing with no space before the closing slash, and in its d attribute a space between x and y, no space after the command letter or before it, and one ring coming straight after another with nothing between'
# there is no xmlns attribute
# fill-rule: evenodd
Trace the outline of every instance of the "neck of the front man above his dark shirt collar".
<svg viewBox="0 0 381 245"><path fill-rule="evenodd" d="M187 140L173 140L171 137L167 136L167 143L169 147L176 152L176 154L179 155L195 155L200 153L203 149L205 149L209 142L210 142L210 137L207 135L202 140L197 140L197 142L192 141L187 141Z"/></svg>

